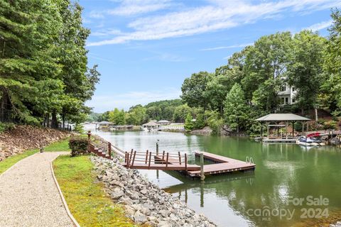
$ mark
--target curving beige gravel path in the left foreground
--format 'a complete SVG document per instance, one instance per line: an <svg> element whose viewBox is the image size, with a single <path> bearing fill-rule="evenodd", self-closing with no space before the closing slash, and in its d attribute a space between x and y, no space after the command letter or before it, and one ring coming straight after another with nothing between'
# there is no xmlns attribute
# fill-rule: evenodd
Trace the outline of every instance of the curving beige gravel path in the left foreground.
<svg viewBox="0 0 341 227"><path fill-rule="evenodd" d="M31 155L0 175L0 226L74 226L50 170L61 154Z"/></svg>

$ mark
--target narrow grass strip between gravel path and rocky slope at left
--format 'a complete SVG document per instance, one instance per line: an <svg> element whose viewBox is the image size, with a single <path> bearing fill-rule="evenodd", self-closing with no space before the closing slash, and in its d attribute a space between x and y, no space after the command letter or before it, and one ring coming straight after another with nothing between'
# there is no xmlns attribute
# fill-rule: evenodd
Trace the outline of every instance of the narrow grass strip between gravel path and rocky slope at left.
<svg viewBox="0 0 341 227"><path fill-rule="evenodd" d="M55 143L51 143L47 147L44 148L45 151L68 151L69 148L69 139L60 140ZM25 157L28 157L30 155L33 155L35 153L38 153L39 149L33 149L33 150L26 150L24 153L13 155L11 157L7 157L5 160L0 162L0 175L1 173L5 172L9 169L12 165L16 164L16 162L24 159Z"/></svg>

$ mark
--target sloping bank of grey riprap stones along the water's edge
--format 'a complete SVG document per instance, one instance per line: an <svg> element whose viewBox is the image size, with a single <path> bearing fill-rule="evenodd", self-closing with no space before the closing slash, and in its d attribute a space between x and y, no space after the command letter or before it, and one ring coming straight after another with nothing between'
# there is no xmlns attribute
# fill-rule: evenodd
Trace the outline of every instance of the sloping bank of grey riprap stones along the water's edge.
<svg viewBox="0 0 341 227"><path fill-rule="evenodd" d="M119 160L90 157L99 181L110 197L122 204L126 216L138 224L162 227L217 226L202 214L196 214L178 198L148 182L137 170L123 167Z"/></svg>

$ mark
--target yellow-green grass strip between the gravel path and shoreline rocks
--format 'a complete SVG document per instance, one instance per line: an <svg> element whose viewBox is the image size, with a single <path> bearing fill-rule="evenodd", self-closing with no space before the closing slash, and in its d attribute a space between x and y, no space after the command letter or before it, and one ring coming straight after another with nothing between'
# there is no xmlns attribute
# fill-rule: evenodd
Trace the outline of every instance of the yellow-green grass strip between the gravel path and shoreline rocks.
<svg viewBox="0 0 341 227"><path fill-rule="evenodd" d="M63 155L53 161L67 206L80 226L135 226L124 216L124 209L114 204L97 182L88 156Z"/></svg>

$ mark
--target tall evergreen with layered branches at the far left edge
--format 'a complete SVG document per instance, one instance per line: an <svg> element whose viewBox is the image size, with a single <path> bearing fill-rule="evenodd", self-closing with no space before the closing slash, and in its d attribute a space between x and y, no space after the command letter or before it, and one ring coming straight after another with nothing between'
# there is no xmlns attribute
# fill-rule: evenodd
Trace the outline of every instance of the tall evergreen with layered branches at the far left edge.
<svg viewBox="0 0 341 227"><path fill-rule="evenodd" d="M38 123L60 105L61 67L53 54L63 27L58 12L55 1L0 1L1 121Z"/></svg>

